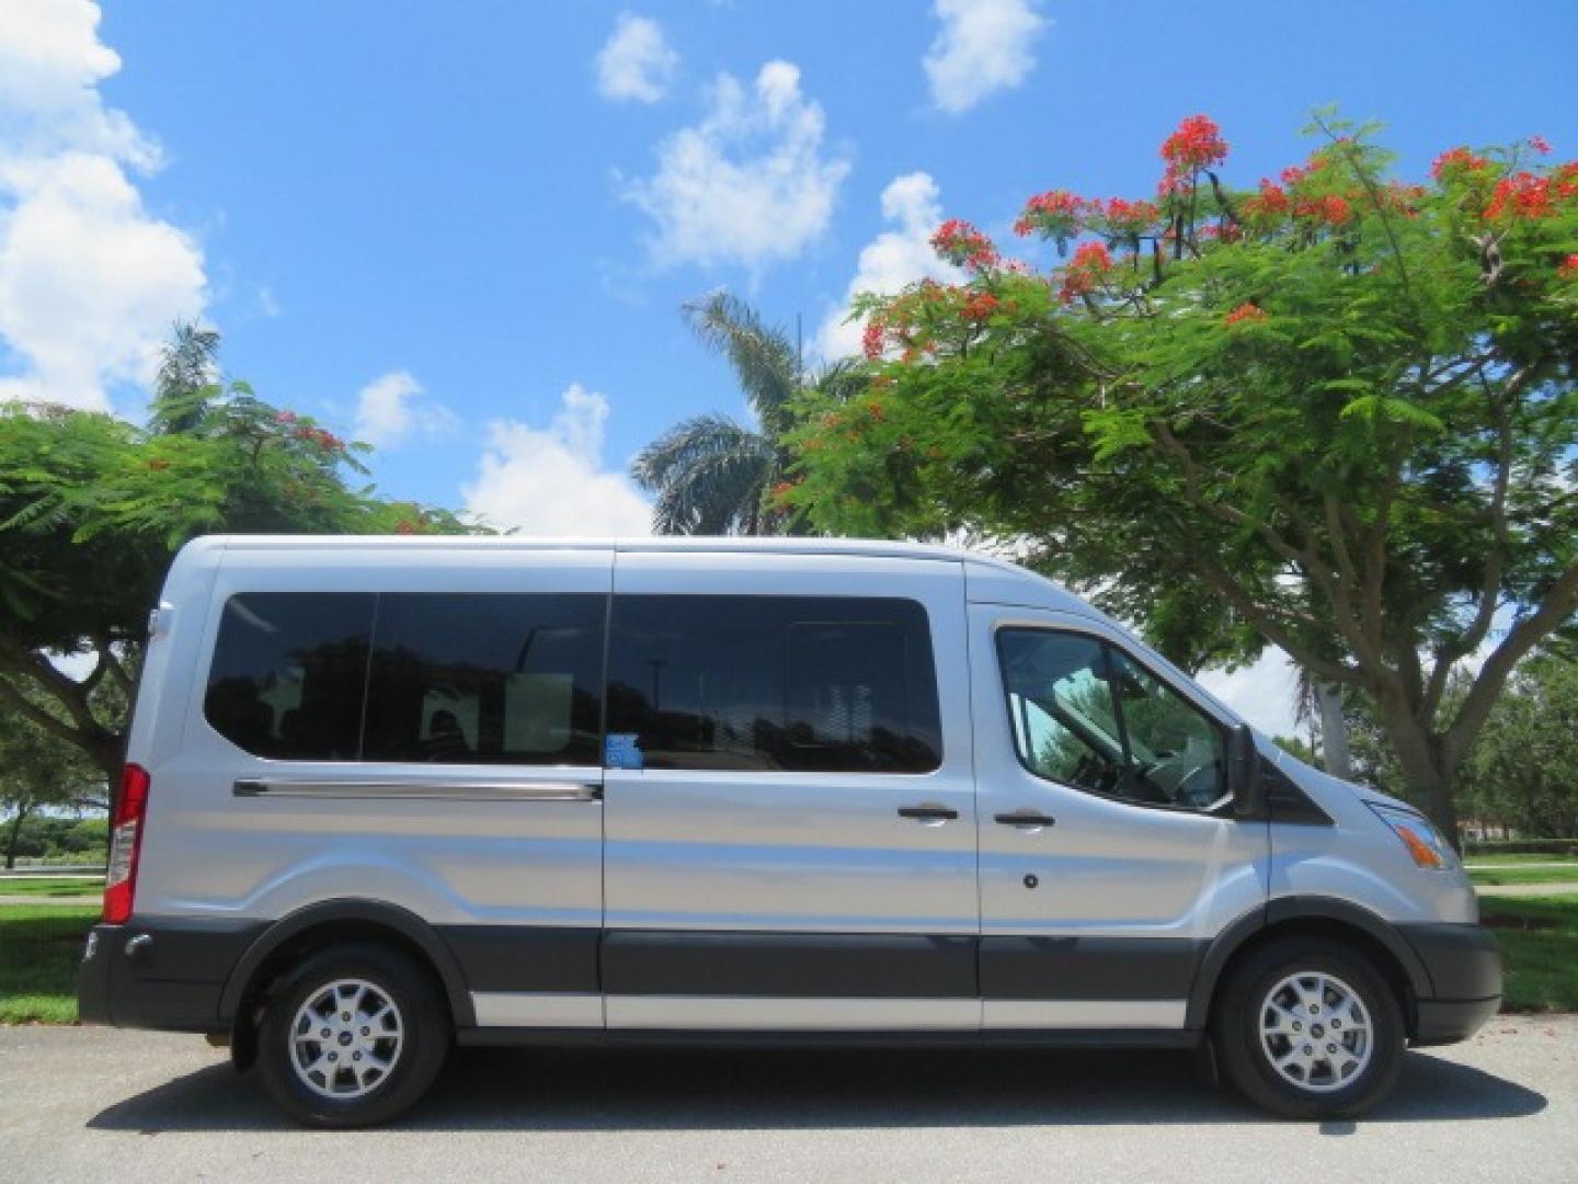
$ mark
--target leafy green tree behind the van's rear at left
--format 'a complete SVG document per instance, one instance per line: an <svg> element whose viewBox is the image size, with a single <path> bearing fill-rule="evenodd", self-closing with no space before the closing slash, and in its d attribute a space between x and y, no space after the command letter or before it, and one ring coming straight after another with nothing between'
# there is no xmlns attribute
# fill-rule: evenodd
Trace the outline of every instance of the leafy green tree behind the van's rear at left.
<svg viewBox="0 0 1578 1184"><path fill-rule="evenodd" d="M417 534L466 527L387 502L365 445L218 382L215 341L177 330L151 423L55 406L0 407L0 707L118 775L148 609L199 534ZM169 382L166 382L169 377ZM205 385L189 385L213 379ZM57 660L87 661L74 677Z"/></svg>

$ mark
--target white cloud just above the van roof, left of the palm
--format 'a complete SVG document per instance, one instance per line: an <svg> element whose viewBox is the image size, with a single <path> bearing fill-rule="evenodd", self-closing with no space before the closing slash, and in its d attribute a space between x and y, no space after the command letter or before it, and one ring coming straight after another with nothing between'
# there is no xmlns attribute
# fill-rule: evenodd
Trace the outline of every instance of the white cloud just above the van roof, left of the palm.
<svg viewBox="0 0 1578 1184"><path fill-rule="evenodd" d="M560 396L548 428L518 420L488 425L466 508L529 535L645 535L652 507L630 478L603 469L608 399L579 382Z"/></svg>

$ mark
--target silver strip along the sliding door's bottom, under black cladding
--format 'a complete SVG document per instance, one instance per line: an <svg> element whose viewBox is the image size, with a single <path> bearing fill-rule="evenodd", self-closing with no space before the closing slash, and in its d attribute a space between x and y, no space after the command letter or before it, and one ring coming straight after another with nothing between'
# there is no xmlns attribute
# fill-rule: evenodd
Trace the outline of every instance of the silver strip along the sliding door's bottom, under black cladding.
<svg viewBox="0 0 1578 1184"><path fill-rule="evenodd" d="M980 999L609 995L609 1028L677 1031L977 1031Z"/></svg>

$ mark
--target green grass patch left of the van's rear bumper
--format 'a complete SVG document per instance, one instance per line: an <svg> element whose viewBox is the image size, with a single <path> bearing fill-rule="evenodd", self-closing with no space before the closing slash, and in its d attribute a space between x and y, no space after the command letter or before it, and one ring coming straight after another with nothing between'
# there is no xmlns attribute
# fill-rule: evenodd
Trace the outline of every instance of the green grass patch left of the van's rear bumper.
<svg viewBox="0 0 1578 1184"><path fill-rule="evenodd" d="M0 1023L74 1023L82 938L96 908L0 905Z"/></svg>

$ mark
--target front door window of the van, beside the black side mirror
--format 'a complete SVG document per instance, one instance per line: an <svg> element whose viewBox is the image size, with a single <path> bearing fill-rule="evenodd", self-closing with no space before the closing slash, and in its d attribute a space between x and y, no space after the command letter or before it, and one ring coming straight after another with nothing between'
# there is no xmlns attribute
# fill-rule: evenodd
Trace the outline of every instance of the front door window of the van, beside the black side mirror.
<svg viewBox="0 0 1578 1184"><path fill-rule="evenodd" d="M1147 805L1207 810L1226 796L1221 728L1128 655L1046 630L1002 630L997 654L1030 772Z"/></svg>

